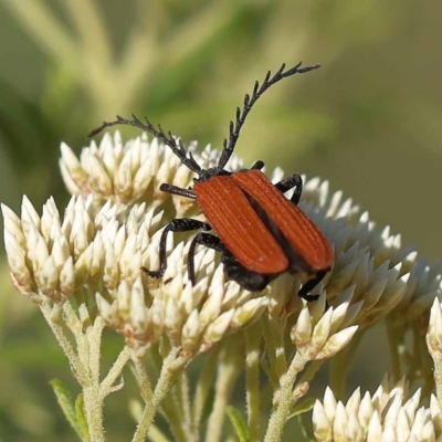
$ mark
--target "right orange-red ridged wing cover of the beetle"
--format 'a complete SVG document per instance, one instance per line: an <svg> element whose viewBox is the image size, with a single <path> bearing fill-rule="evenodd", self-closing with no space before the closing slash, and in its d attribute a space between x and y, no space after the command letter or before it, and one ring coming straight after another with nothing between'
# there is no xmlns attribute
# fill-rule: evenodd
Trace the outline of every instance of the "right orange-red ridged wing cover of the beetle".
<svg viewBox="0 0 442 442"><path fill-rule="evenodd" d="M323 232L263 172L240 171L233 173L232 179L257 202L312 270L328 270L332 266L333 251Z"/></svg>

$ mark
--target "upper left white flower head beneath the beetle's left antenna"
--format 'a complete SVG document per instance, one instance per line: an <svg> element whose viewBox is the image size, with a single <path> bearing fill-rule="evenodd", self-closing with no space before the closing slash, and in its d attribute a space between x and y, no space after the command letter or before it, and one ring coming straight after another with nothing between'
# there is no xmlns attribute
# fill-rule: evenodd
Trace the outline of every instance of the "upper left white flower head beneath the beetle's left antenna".
<svg viewBox="0 0 442 442"><path fill-rule="evenodd" d="M200 155L196 148L196 143L187 147L201 166L217 164L217 150L208 146ZM170 198L159 190L161 183L188 188L194 173L158 138L149 141L146 133L125 144L118 130L113 137L106 133L99 146L92 140L88 147L83 148L80 159L64 143L61 152L60 168L72 194L93 194L98 203L107 200L123 204L146 202L149 208L170 200L178 218L196 209L194 201L178 196ZM233 158L230 164L239 168L241 161Z"/></svg>

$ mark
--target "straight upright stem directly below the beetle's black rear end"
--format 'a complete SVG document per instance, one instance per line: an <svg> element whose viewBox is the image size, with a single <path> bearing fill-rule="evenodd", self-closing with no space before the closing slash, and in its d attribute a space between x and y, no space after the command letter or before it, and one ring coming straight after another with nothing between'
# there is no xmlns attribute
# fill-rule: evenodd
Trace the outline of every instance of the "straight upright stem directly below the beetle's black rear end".
<svg viewBox="0 0 442 442"><path fill-rule="evenodd" d="M246 404L250 442L261 440L260 427L260 357L262 333L257 324L245 329Z"/></svg>

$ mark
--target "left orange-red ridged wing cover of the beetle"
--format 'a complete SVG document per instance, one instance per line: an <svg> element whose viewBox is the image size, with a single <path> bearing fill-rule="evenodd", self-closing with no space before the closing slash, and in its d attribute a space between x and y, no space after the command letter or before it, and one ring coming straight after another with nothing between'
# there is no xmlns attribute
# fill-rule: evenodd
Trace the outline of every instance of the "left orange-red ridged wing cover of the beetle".
<svg viewBox="0 0 442 442"><path fill-rule="evenodd" d="M194 183L201 211L244 267L261 274L285 272L288 260L282 248L232 177L217 176Z"/></svg>

